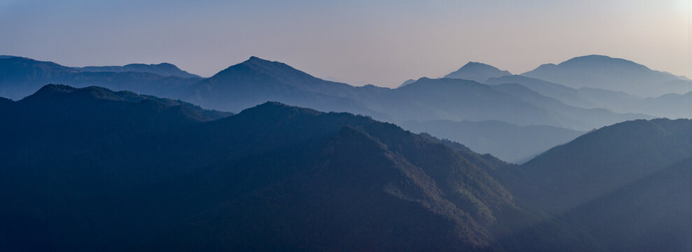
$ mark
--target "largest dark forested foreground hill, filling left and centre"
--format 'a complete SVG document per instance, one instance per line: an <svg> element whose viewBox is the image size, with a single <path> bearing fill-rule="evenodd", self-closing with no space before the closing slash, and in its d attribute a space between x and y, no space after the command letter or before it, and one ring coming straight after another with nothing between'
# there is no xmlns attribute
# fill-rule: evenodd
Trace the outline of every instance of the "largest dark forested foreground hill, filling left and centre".
<svg viewBox="0 0 692 252"><path fill-rule="evenodd" d="M0 108L3 251L598 248L531 228L503 162L362 116L63 85Z"/></svg>

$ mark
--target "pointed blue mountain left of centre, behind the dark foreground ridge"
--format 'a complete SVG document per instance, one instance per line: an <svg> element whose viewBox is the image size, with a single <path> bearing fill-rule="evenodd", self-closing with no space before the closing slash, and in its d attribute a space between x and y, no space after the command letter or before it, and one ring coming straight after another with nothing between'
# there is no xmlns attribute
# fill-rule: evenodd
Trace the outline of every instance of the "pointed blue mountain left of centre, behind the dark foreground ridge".
<svg viewBox="0 0 692 252"><path fill-rule="evenodd" d="M377 114L347 97L353 90L351 85L322 80L281 62L250 57L192 85L183 97L224 111L241 111L276 101L321 111Z"/></svg>

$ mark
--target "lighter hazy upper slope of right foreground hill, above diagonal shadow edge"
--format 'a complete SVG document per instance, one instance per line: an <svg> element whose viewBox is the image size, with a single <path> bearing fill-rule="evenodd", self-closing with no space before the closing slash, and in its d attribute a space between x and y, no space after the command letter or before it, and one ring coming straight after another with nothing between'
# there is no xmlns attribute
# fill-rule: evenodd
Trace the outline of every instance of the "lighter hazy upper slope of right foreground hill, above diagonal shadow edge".
<svg viewBox="0 0 692 252"><path fill-rule="evenodd" d="M634 120L589 132L521 167L506 185L530 204L560 214L689 158L692 120Z"/></svg>

